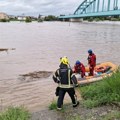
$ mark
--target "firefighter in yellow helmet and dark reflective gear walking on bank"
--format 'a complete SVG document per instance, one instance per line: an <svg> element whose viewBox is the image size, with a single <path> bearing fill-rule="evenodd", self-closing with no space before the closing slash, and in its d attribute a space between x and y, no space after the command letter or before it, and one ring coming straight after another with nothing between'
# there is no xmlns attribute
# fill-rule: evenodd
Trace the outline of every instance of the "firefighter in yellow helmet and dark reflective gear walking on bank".
<svg viewBox="0 0 120 120"><path fill-rule="evenodd" d="M59 67L60 68L57 69L53 75L54 82L58 83L59 86L57 109L62 109L66 92L69 94L72 100L73 107L77 107L79 105L79 102L77 101L74 87L77 87L78 83L75 75L72 72L72 69L68 67L68 62L65 57L61 59L61 64Z"/></svg>

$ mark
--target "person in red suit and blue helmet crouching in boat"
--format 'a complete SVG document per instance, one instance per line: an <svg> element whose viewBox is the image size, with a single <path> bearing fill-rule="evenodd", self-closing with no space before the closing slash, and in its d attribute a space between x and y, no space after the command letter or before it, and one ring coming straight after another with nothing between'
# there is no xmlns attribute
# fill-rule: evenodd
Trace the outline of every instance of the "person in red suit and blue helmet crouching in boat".
<svg viewBox="0 0 120 120"><path fill-rule="evenodd" d="M74 65L73 72L81 74L81 78L84 78L85 77L85 66L79 60L77 60Z"/></svg>

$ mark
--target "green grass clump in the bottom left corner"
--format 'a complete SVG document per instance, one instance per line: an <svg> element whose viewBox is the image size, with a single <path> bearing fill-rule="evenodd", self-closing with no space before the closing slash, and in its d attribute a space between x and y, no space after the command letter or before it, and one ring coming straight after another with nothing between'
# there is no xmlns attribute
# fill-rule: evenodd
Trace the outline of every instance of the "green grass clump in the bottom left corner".
<svg viewBox="0 0 120 120"><path fill-rule="evenodd" d="M30 113L24 107L9 107L0 113L0 120L29 120Z"/></svg>

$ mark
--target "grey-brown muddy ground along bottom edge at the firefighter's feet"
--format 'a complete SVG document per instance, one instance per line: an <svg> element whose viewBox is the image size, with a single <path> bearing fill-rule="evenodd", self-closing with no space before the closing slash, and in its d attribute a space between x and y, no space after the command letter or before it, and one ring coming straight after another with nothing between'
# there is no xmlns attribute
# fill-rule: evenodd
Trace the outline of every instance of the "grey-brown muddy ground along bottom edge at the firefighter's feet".
<svg viewBox="0 0 120 120"><path fill-rule="evenodd" d="M103 107L87 109L81 104L77 108L66 105L64 111L57 110L42 110L32 113L31 120L102 120L107 114L112 114L114 111L120 111L120 108L107 105ZM107 120L120 120L112 117Z"/></svg>

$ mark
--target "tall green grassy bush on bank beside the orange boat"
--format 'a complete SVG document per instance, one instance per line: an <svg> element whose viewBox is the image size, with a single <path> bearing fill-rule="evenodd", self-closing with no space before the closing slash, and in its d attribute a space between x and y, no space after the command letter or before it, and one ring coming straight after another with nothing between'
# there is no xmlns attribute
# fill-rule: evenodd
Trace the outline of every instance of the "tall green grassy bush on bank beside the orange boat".
<svg viewBox="0 0 120 120"><path fill-rule="evenodd" d="M98 83L81 87L83 105L89 108L120 102L120 69Z"/></svg>

